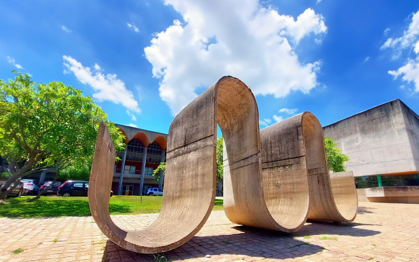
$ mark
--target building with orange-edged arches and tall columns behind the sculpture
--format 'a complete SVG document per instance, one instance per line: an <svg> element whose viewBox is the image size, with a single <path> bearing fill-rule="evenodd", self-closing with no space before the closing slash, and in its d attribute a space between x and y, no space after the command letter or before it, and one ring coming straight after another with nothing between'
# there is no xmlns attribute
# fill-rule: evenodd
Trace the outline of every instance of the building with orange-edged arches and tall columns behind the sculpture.
<svg viewBox="0 0 419 262"><path fill-rule="evenodd" d="M168 135L115 125L125 136L126 146L117 153L121 160L115 161L112 191L116 195L144 195L150 187L163 188L163 177L155 180L153 170L166 161Z"/></svg>

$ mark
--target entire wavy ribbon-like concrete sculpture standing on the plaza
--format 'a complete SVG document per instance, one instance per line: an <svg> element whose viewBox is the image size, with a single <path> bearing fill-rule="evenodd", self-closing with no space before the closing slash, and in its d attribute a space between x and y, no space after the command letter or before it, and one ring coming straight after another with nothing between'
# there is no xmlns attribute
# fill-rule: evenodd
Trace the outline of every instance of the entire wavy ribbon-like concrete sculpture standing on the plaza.
<svg viewBox="0 0 419 262"><path fill-rule="evenodd" d="M166 252L189 241L214 205L218 123L225 139L224 210L231 221L285 232L297 231L307 218L349 221L356 210L345 213L345 205L354 205L348 190L353 178L351 184L349 176L329 177L321 127L312 130L316 121L304 113L260 134L251 90L237 78L221 78L173 119L163 205L157 220L137 231L119 228L109 215L115 152L101 124L88 192L92 216L111 241L134 252ZM349 195L350 201L343 199Z"/></svg>

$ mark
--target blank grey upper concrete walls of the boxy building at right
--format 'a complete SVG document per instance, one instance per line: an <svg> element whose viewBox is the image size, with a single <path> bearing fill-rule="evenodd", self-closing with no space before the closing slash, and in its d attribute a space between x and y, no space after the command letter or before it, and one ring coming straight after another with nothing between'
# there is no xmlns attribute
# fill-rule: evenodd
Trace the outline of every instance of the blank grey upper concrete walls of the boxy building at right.
<svg viewBox="0 0 419 262"><path fill-rule="evenodd" d="M323 127L354 176L419 173L419 117L399 99Z"/></svg>

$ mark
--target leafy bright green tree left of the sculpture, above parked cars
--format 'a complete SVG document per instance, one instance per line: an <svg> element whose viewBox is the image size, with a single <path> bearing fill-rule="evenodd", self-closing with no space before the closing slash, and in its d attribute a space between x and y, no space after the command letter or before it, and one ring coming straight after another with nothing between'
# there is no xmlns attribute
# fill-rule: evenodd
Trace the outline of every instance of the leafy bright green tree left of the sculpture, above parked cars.
<svg viewBox="0 0 419 262"><path fill-rule="evenodd" d="M16 73L0 80L0 154L10 163L10 178L0 200L18 179L47 167L90 164L100 122L106 122L116 150L123 135L90 97L62 82L35 83Z"/></svg>

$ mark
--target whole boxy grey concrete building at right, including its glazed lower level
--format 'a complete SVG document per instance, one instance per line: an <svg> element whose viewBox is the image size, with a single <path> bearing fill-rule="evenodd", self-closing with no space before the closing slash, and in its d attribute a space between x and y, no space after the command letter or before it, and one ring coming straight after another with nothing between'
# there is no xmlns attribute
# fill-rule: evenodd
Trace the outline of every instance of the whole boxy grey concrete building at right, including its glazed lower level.
<svg viewBox="0 0 419 262"><path fill-rule="evenodd" d="M323 127L349 156L360 201L419 203L419 116L396 99Z"/></svg>

